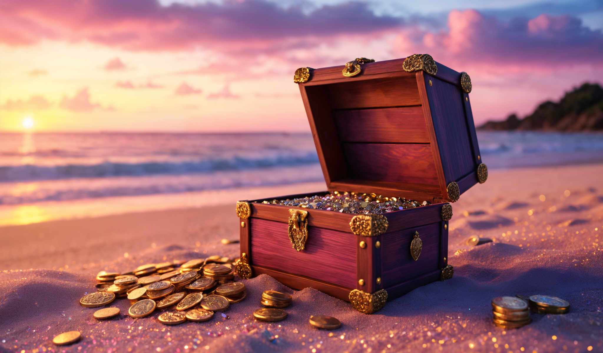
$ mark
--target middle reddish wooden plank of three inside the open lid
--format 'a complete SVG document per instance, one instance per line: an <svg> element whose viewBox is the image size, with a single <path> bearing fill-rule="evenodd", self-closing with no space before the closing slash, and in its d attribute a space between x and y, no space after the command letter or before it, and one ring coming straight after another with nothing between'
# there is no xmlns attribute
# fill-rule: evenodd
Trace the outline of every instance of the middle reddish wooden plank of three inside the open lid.
<svg viewBox="0 0 603 353"><path fill-rule="evenodd" d="M341 142L429 143L421 107L334 110Z"/></svg>

